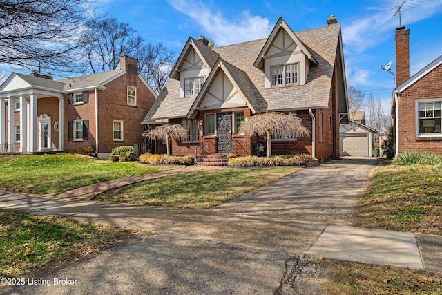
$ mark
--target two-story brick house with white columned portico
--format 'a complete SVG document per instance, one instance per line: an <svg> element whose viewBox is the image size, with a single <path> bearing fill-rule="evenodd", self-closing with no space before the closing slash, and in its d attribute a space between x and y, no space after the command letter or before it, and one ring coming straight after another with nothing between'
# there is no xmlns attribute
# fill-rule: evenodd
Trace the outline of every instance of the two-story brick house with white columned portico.
<svg viewBox="0 0 442 295"><path fill-rule="evenodd" d="M57 81L12 73L0 86L0 152L86 149L106 159L116 146L144 142L140 123L156 96L128 56L119 70Z"/></svg>

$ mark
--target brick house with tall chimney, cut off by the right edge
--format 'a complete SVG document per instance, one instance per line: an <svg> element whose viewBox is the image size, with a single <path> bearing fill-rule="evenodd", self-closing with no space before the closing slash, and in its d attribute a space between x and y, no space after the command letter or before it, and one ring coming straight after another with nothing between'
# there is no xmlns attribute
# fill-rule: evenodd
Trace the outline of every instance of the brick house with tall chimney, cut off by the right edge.
<svg viewBox="0 0 442 295"><path fill-rule="evenodd" d="M410 29L396 29L396 89L392 99L396 156L442 155L442 55L410 77Z"/></svg>

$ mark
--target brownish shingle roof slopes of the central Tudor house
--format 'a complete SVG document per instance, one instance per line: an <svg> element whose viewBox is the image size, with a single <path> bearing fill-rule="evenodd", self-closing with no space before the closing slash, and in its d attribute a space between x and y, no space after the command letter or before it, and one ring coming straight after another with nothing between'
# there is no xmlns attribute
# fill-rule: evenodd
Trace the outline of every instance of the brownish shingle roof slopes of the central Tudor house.
<svg viewBox="0 0 442 295"><path fill-rule="evenodd" d="M305 85L300 86L265 88L264 73L253 66L253 63L267 39L222 46L214 48L213 52L221 57L224 66L241 88L244 96L252 105L258 106L261 111L326 108L332 88L339 35L340 25L338 23L296 32L296 36L302 41L302 44L318 61L317 65L311 64L307 81ZM204 58L208 62L209 59L212 62L217 56L211 54L212 50L199 44L198 41L195 41L195 44L198 44L198 50L204 54ZM144 122L151 120L151 118L185 117L190 110L195 97L180 97L180 82L176 80L169 81L167 86L167 93L160 94L160 97L163 95L161 105L156 111L151 110Z"/></svg>

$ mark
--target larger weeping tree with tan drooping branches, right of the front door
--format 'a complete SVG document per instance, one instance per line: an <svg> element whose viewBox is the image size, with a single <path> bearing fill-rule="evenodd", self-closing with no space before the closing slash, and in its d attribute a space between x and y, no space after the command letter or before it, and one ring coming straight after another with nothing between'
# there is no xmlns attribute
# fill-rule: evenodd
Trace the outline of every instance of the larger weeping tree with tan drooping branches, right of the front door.
<svg viewBox="0 0 442 295"><path fill-rule="evenodd" d="M267 158L271 156L271 137L308 137L309 130L302 125L296 114L263 113L249 117L244 122L247 136L265 136L267 140Z"/></svg>

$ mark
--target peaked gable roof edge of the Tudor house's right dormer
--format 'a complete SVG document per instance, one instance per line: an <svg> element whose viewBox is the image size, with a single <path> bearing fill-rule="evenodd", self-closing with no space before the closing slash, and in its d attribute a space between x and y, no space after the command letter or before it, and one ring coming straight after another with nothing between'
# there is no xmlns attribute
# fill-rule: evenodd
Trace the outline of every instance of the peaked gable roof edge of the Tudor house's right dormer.
<svg viewBox="0 0 442 295"><path fill-rule="evenodd" d="M269 52L269 49L271 48L273 41L275 41L275 38L278 36L278 34L283 30L287 33L289 36L289 40L285 41L284 48L278 48L279 50L285 51L289 50L292 44L296 44L297 48L300 48L300 52L303 53L313 64L318 64L318 61L315 59L314 55L312 55L311 51L305 46L305 44L302 43L302 41L298 38L298 36L294 33L293 30L289 27L289 25L280 17L278 19L278 22L273 27L273 30L271 31L269 37L267 38L267 41L265 42L264 46L262 46L262 49L256 58L255 63L253 66L256 66L256 68L259 68L260 70L264 70L264 60L267 58L266 55Z"/></svg>

